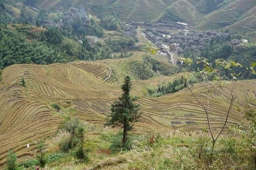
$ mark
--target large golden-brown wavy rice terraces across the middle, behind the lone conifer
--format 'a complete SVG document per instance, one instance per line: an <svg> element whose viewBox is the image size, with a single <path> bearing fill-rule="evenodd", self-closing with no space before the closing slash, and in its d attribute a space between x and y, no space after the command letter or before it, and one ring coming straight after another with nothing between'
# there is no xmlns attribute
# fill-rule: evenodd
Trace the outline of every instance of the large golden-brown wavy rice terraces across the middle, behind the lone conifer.
<svg viewBox="0 0 256 170"><path fill-rule="evenodd" d="M9 149L19 157L34 155L36 142L49 137L58 127L61 118L53 114L50 104L58 103L71 110L70 114L82 117L92 123L103 123L110 105L120 95L120 84L111 83L108 66L122 63L116 59L69 64L18 64L5 68L0 84L0 166L5 162ZM116 64L118 67L118 64ZM22 77L26 87L20 85ZM137 131L150 129L198 129L206 126L206 115L187 89L160 98L148 98L144 92L174 76L158 76L150 80L134 80L132 95L139 96L142 117L136 124ZM110 84L108 83L110 81ZM236 107L246 100L256 97L256 81L240 81L235 84L242 95L236 101L228 125L244 121ZM201 86L193 86L198 98L204 99ZM212 94L210 118L213 129L218 129L224 121L228 109L227 99L220 94ZM200 121L201 124L197 122ZM26 148L29 143L30 147Z"/></svg>

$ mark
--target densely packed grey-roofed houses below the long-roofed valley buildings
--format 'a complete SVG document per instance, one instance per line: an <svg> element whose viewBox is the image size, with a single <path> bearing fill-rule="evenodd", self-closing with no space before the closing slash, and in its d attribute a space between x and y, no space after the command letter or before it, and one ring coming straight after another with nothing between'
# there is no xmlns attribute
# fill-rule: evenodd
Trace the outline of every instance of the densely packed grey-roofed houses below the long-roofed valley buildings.
<svg viewBox="0 0 256 170"><path fill-rule="evenodd" d="M144 31L146 38L152 41L158 49L166 53L166 45L169 45L169 51L181 54L185 51L201 52L206 44L212 39L223 39L230 41L230 33L222 33L217 31L206 32L190 32L183 29L179 33L171 34L162 29L148 28ZM230 41L231 45L240 45L247 43L248 40L233 39Z"/></svg>

